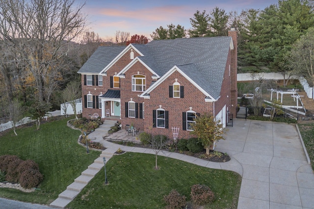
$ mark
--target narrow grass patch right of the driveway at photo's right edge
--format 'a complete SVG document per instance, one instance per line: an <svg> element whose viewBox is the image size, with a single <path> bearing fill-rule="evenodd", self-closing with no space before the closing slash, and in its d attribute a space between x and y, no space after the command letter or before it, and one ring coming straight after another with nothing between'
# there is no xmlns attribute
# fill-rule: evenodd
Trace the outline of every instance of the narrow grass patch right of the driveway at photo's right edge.
<svg viewBox="0 0 314 209"><path fill-rule="evenodd" d="M314 123L298 124L298 126L314 170Z"/></svg>

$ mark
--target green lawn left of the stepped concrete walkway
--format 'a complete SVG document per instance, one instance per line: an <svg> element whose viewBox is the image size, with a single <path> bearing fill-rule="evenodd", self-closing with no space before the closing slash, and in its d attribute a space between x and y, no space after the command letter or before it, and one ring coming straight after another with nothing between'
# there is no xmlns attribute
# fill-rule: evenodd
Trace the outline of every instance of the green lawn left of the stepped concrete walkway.
<svg viewBox="0 0 314 209"><path fill-rule="evenodd" d="M18 129L18 136L10 131L0 138L0 155L17 155L31 159L39 165L44 181L38 190L25 193L20 190L0 188L0 197L24 202L50 204L94 162L100 151L86 149L78 144L80 131L67 127L69 118Z"/></svg>

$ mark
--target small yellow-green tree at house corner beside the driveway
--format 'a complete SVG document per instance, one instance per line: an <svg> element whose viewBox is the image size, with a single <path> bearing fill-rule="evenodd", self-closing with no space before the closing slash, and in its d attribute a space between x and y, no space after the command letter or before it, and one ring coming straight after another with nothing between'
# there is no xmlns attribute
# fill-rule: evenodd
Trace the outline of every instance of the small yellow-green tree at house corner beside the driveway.
<svg viewBox="0 0 314 209"><path fill-rule="evenodd" d="M192 125L191 134L196 135L198 140L206 148L206 154L209 155L210 147L214 149L214 143L219 139L225 139L222 134L222 124L214 116L204 114L195 118L195 124Z"/></svg>

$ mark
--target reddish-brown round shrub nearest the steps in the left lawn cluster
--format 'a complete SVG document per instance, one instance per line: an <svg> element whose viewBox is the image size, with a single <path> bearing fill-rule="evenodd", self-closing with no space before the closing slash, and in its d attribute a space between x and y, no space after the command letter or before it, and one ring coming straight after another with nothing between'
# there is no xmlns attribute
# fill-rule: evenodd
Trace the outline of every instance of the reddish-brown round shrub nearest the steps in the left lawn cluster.
<svg viewBox="0 0 314 209"><path fill-rule="evenodd" d="M33 188L43 181L43 175L39 170L28 169L21 174L20 184L23 188Z"/></svg>

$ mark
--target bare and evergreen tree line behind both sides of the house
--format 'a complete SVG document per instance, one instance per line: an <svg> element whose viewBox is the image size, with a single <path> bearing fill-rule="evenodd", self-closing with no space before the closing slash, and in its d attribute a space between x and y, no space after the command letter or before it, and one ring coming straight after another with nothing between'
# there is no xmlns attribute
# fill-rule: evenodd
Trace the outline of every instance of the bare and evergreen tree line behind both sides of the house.
<svg viewBox="0 0 314 209"><path fill-rule="evenodd" d="M0 0L1 116L12 120L28 113L39 118L59 109L69 92L79 98L77 71L97 47L150 41L138 34L130 38L124 31L105 41L88 31L83 6L75 0ZM218 7L209 13L197 10L189 29L170 23L157 27L151 38L227 36L233 27L238 31L239 70L293 72L313 85L313 8L312 0L279 0L263 10L240 13L227 14Z"/></svg>

